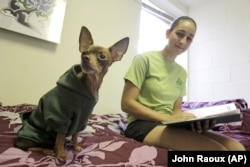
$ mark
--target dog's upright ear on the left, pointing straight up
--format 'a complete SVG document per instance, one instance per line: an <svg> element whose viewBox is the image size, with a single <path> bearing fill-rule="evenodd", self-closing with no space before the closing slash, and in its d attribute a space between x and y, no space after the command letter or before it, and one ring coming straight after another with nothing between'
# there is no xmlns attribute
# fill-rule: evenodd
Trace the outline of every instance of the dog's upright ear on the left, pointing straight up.
<svg viewBox="0 0 250 167"><path fill-rule="evenodd" d="M82 26L79 36L79 51L82 53L89 45L93 45L92 35L87 27Z"/></svg>

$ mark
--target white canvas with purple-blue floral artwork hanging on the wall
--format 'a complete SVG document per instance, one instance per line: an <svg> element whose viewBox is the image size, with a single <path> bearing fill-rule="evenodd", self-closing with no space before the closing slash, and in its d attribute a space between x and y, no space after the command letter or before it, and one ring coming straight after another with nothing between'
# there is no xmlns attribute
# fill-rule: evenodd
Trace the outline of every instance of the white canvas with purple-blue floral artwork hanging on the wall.
<svg viewBox="0 0 250 167"><path fill-rule="evenodd" d="M1 0L0 28L60 43L66 0Z"/></svg>

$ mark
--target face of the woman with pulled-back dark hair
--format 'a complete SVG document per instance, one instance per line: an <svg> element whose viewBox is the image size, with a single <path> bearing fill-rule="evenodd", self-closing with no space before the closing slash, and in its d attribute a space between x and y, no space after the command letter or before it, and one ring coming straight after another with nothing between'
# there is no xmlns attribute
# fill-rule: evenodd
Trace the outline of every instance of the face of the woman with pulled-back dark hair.
<svg viewBox="0 0 250 167"><path fill-rule="evenodd" d="M196 27L192 21L181 20L172 31L167 30L168 49L172 54L185 52L193 41Z"/></svg>

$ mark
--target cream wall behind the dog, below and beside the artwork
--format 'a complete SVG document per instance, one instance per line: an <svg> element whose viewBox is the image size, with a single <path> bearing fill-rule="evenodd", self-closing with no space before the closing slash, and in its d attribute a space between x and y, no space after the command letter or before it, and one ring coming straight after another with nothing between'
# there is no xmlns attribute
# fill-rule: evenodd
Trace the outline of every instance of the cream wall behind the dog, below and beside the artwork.
<svg viewBox="0 0 250 167"><path fill-rule="evenodd" d="M136 54L140 7L140 0L68 0L60 44L0 29L0 101L37 104L65 70L80 62L78 36L85 25L99 45L130 37L128 52L104 78L94 110L120 112L123 75Z"/></svg>

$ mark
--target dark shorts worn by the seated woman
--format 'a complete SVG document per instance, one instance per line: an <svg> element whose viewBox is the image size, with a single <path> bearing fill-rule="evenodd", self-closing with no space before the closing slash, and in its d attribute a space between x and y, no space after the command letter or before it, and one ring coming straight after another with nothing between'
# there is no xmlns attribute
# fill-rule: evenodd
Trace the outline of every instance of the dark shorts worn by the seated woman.
<svg viewBox="0 0 250 167"><path fill-rule="evenodd" d="M158 125L162 124L154 121L135 120L128 124L125 136L143 142L148 133Z"/></svg>

